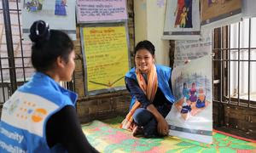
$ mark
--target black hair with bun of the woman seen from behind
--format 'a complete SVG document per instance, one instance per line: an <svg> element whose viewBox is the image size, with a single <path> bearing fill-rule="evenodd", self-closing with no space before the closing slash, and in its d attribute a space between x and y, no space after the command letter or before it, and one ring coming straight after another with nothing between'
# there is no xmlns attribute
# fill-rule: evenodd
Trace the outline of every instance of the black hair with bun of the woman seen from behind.
<svg viewBox="0 0 256 153"><path fill-rule="evenodd" d="M38 20L32 24L29 37L33 42L32 65L36 71L50 70L59 56L68 62L73 42L66 33L49 30L47 23Z"/></svg>

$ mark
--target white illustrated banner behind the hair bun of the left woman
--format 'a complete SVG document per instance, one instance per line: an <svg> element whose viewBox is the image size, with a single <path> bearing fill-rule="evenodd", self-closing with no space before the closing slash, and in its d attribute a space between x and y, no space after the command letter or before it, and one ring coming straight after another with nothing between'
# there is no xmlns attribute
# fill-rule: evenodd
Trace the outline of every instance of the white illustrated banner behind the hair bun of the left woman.
<svg viewBox="0 0 256 153"><path fill-rule="evenodd" d="M76 40L74 0L24 0L21 11L25 40L29 40L30 26L36 20L44 20L50 29L65 31Z"/></svg>

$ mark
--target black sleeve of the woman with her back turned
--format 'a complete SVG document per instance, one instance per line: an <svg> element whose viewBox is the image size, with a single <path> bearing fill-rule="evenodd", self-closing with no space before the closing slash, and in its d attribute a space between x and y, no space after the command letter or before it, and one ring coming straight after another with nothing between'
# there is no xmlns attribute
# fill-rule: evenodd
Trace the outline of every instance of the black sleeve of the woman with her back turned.
<svg viewBox="0 0 256 153"><path fill-rule="evenodd" d="M85 138L75 108L71 105L49 118L46 139L50 148L62 144L68 152L98 152Z"/></svg>

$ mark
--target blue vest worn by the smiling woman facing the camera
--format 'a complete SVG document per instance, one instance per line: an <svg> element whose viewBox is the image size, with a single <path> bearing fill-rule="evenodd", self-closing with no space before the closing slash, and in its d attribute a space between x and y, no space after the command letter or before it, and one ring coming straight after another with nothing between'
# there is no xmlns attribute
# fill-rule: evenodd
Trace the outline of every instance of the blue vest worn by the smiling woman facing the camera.
<svg viewBox="0 0 256 153"><path fill-rule="evenodd" d="M172 95L171 88L169 87L169 80L171 78L172 69L170 67L164 66L164 65L155 65L156 67L156 73L157 73L157 81L158 81L158 88L160 88L161 92L166 96L166 99L170 101L170 103L174 103L175 98ZM125 74L125 77L129 77L131 79L134 79L137 81L135 68L132 68L131 71L128 71ZM131 105L134 105L136 102L136 97L131 97Z"/></svg>

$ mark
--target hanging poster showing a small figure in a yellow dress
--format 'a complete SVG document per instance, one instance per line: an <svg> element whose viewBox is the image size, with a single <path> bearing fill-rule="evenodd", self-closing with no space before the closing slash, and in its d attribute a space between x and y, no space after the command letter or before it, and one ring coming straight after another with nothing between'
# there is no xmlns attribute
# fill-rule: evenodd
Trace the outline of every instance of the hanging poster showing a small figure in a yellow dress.
<svg viewBox="0 0 256 153"><path fill-rule="evenodd" d="M164 39L200 38L199 0L167 0Z"/></svg>

